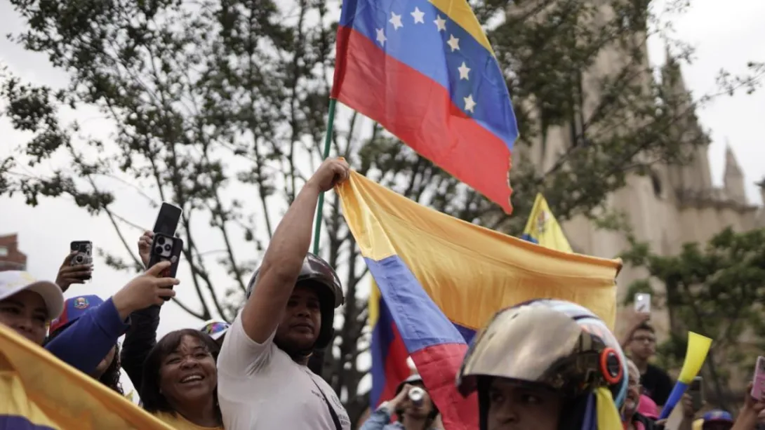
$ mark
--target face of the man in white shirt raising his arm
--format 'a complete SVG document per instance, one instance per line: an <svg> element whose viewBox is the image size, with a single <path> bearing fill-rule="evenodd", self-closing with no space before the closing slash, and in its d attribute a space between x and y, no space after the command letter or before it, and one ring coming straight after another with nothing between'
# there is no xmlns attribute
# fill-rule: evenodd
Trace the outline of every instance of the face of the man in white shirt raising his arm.
<svg viewBox="0 0 765 430"><path fill-rule="evenodd" d="M297 285L287 301L282 323L276 329L279 340L301 350L314 346L321 331L321 308L314 288Z"/></svg>

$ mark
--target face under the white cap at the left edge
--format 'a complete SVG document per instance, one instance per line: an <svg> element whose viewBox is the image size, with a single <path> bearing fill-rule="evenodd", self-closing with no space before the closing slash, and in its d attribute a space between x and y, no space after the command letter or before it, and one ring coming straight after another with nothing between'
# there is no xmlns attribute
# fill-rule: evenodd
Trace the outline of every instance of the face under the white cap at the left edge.
<svg viewBox="0 0 765 430"><path fill-rule="evenodd" d="M0 323L35 344L42 345L45 341L48 319L45 301L36 292L24 290L0 301Z"/></svg>

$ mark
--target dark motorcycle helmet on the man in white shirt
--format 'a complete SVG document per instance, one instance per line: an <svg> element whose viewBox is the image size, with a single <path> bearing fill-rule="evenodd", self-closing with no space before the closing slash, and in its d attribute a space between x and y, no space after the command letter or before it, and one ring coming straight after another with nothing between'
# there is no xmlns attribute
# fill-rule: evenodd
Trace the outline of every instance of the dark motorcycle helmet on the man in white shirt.
<svg viewBox="0 0 765 430"><path fill-rule="evenodd" d="M256 269L249 279L247 285L247 298L252 295L252 289L255 288L260 268ZM337 277L334 269L319 256L308 252L303 260L303 267L300 269L300 275L295 284L311 281L313 285L321 286L317 288L319 303L321 307L321 330L316 338L314 349L324 349L334 337L334 310L345 303L343 296L343 287L340 285L340 278Z"/></svg>

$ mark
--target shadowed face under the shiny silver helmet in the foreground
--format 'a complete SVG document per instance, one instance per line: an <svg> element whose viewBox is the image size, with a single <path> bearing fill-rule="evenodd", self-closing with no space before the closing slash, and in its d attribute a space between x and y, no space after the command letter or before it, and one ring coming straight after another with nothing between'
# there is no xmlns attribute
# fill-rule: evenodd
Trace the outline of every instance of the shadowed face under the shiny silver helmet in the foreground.
<svg viewBox="0 0 765 430"><path fill-rule="evenodd" d="M560 396L495 378L489 388L489 430L557 430Z"/></svg>

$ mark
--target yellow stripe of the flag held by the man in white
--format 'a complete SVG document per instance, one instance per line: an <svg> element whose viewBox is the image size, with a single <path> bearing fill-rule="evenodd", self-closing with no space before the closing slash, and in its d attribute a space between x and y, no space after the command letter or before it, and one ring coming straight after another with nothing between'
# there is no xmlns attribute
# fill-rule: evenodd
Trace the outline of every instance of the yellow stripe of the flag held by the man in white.
<svg viewBox="0 0 765 430"><path fill-rule="evenodd" d="M366 258L399 256L448 318L478 329L496 311L532 298L591 309L613 331L620 260L560 252L449 217L356 172L337 187ZM369 318L375 319L376 309Z"/></svg>

